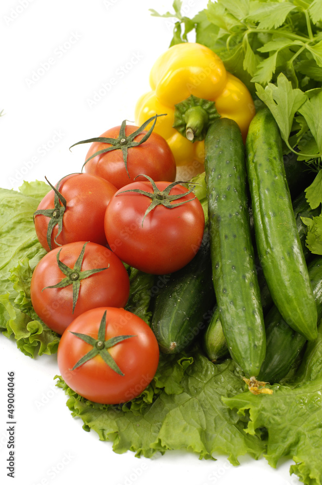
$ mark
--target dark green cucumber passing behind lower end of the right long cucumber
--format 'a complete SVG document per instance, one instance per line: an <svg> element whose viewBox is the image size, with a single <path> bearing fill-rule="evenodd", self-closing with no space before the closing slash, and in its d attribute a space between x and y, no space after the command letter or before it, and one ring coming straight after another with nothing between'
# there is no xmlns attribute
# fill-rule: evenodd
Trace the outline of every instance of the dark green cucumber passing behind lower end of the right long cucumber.
<svg viewBox="0 0 322 485"><path fill-rule="evenodd" d="M308 272L320 321L322 318L322 256L308 264ZM258 379L273 384L279 382L290 371L306 343L306 338L285 322L275 306L267 314L265 326L266 356Z"/></svg>

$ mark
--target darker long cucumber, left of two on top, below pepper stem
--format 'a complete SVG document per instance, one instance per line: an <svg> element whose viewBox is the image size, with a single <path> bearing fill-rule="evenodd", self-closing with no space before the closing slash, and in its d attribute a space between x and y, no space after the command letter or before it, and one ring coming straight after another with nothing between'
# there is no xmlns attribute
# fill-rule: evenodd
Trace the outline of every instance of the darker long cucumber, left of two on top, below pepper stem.
<svg viewBox="0 0 322 485"><path fill-rule="evenodd" d="M265 356L265 328L251 241L245 152L238 125L215 120L205 138L212 280L229 353L247 377Z"/></svg>

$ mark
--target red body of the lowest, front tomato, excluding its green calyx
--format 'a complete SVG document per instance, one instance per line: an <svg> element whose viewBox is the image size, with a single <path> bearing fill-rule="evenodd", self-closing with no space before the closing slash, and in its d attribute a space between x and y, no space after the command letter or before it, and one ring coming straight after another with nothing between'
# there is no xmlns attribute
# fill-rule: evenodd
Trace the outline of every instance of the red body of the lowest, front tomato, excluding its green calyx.
<svg viewBox="0 0 322 485"><path fill-rule="evenodd" d="M104 312L105 340L131 336L105 349L123 375L115 372L100 354L72 370L97 346L71 332L98 340ZM120 404L141 394L151 382L159 363L159 347L151 328L140 317L123 308L102 307L86 311L68 326L58 346L57 361L65 383L75 392L96 403Z"/></svg>

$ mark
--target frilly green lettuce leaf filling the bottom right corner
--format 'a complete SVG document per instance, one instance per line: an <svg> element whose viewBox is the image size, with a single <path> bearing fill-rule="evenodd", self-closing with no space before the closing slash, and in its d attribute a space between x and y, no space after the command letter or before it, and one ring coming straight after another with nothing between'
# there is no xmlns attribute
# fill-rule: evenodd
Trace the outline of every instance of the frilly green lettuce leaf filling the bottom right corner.
<svg viewBox="0 0 322 485"><path fill-rule="evenodd" d="M283 457L292 458L303 483L322 483L322 379L300 385L274 384L273 394L254 395L246 391L239 396L223 397L241 416L249 412L246 434L253 436L262 427L268 431L268 463L276 468Z"/></svg>

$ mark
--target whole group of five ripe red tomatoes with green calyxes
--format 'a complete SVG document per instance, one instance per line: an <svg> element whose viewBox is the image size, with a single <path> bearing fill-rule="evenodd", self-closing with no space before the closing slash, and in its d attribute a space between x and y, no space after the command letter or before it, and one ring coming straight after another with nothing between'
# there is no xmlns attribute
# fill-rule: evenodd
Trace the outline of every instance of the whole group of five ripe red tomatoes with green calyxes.
<svg viewBox="0 0 322 485"><path fill-rule="evenodd" d="M141 128L123 123L105 141L88 140L86 172L48 182L34 214L47 254L32 275L32 305L62 336L58 365L66 384L102 404L139 395L159 362L152 330L125 309L123 263L151 274L177 271L196 254L205 224L193 188L174 181L169 146Z"/></svg>

